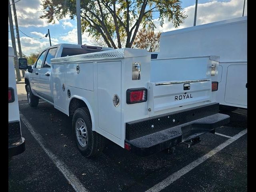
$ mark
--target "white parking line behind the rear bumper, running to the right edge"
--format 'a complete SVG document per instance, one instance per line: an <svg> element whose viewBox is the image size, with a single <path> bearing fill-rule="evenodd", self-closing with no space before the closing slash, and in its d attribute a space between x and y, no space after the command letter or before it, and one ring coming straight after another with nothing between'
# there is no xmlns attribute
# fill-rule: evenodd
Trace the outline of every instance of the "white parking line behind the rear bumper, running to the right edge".
<svg viewBox="0 0 256 192"><path fill-rule="evenodd" d="M182 169L178 170L177 172L171 174L166 179L162 180L152 188L148 189L146 192L159 192L160 190L166 188L170 184L172 184L174 181L176 181L178 178L183 176L184 174L188 173L192 169L194 169L196 166L200 165L202 162L237 140L238 138L242 137L244 134L247 133L247 129L241 131L240 133L236 134L235 136L231 137L230 139L226 140L224 143L220 144L204 156L198 158L197 160L193 161L192 163L188 164L187 166L183 167Z"/></svg>

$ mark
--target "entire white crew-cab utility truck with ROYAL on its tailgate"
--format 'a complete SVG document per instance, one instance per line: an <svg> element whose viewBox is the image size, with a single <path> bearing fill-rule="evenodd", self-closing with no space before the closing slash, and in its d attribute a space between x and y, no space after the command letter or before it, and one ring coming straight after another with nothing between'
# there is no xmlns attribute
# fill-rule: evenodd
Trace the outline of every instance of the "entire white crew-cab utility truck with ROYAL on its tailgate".
<svg viewBox="0 0 256 192"><path fill-rule="evenodd" d="M100 154L105 138L141 156L182 142L190 146L229 122L215 102L218 56L152 64L146 50L72 45L91 53L66 56L73 49L62 54L65 46L47 48L33 66L20 69L28 68L30 106L42 98L71 116L86 157Z"/></svg>

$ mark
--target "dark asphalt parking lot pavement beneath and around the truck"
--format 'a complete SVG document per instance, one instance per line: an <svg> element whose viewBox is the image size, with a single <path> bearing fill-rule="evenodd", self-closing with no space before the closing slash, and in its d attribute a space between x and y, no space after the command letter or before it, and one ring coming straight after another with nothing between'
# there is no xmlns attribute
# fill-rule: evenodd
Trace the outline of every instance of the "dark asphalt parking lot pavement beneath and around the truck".
<svg viewBox="0 0 256 192"><path fill-rule="evenodd" d="M174 155L139 157L108 140L101 156L85 158L68 116L42 100L37 108L19 101L19 109L26 150L9 161L10 192L247 191L247 110L226 113L218 134Z"/></svg>

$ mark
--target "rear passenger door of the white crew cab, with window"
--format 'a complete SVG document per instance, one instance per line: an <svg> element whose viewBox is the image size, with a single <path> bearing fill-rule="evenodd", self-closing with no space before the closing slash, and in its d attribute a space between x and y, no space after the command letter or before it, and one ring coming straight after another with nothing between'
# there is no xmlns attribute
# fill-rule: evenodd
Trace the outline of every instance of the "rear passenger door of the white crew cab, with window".
<svg viewBox="0 0 256 192"><path fill-rule="evenodd" d="M52 66L50 64L51 59L55 57L57 52L57 47L50 48L46 54L46 59L44 60L44 64L42 68L38 71L40 80L40 90L38 95L42 98L48 100L49 102L53 103L53 93L52 93Z"/></svg>

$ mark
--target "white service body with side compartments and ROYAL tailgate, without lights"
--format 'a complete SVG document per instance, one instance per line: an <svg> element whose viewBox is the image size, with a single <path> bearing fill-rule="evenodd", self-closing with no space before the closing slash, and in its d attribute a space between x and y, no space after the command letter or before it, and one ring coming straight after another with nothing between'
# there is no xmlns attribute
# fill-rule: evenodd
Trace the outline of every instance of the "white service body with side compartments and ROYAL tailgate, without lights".
<svg viewBox="0 0 256 192"><path fill-rule="evenodd" d="M215 60L210 60L211 58ZM159 61L162 62L162 60ZM141 64L140 80L132 80L134 62ZM153 66L150 54L146 50L124 48L56 58L52 59L51 63L54 79L54 107L69 115L70 101L73 98L83 100L90 111L92 130L122 147L124 147L126 122L215 102L215 94L211 91L210 72L212 64L216 64L215 72L216 75L218 74L218 57L167 58L159 66ZM168 68L164 63L169 63L173 68ZM79 72L77 66L79 66ZM186 77L177 66L185 66L188 71L197 68L197 74ZM152 70L158 76L152 75ZM166 75L161 74L163 71ZM178 74L180 74L179 78ZM180 84L180 86L178 84L160 85L177 79L196 80L191 82L192 88L188 91L188 94L192 94L190 100L174 101L175 96L185 92ZM126 90L130 88L147 88L148 100L127 104ZM68 90L70 90L70 98L67 96ZM114 95L120 98L118 106L114 106ZM152 110L149 112L150 107Z"/></svg>

